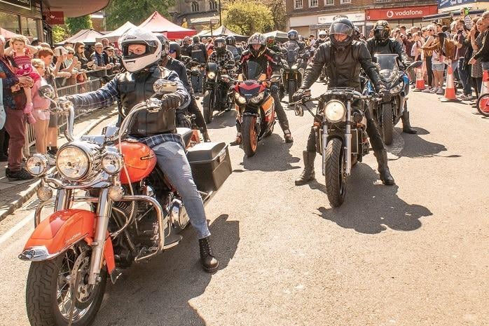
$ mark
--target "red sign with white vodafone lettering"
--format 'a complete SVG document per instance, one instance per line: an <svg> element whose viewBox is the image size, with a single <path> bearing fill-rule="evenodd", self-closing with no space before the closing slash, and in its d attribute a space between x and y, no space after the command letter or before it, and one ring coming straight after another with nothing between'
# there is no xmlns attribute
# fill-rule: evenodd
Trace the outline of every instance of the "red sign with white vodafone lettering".
<svg viewBox="0 0 489 326"><path fill-rule="evenodd" d="M414 6L404 8L378 8L365 11L367 21L423 18L438 13L438 6Z"/></svg>

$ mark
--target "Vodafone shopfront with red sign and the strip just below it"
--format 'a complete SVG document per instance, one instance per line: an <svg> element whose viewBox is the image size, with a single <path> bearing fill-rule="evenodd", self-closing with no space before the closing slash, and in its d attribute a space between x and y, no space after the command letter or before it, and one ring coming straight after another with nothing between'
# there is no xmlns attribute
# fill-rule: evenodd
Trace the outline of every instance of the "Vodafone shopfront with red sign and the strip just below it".
<svg viewBox="0 0 489 326"><path fill-rule="evenodd" d="M392 27L397 26L426 26L428 23L422 20L427 15L434 15L438 13L438 6L411 6L411 7L397 7L397 8L378 8L367 9L366 15L366 35L369 34L373 27L373 24L377 20L387 20Z"/></svg>

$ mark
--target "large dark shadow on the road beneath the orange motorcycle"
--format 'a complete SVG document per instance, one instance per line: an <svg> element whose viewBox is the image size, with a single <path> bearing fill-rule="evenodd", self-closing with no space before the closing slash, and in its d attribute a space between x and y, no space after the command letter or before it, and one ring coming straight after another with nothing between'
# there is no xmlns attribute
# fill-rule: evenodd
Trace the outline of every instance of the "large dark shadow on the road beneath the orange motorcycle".
<svg viewBox="0 0 489 326"><path fill-rule="evenodd" d="M240 226L221 215L209 229L220 273L236 252ZM184 240L177 247L148 264L134 264L107 289L93 325L206 325L189 301L205 292L212 274L200 266L195 231L190 226L182 235Z"/></svg>

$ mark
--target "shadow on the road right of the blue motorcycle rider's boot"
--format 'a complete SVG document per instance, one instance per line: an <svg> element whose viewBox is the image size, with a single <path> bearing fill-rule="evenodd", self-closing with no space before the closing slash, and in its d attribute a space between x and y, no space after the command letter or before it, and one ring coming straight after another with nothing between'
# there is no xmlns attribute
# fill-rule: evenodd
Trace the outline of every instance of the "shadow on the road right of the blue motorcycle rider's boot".
<svg viewBox="0 0 489 326"><path fill-rule="evenodd" d="M423 128L414 128L418 130L415 135L403 134L404 137L404 148L399 152L399 157L405 156L409 158L421 158L421 157L432 157L439 156L445 158L457 158L460 155L438 155L442 151L447 151L445 145L437 144L436 142L428 142L423 140L420 135L429 135L429 131Z"/></svg>

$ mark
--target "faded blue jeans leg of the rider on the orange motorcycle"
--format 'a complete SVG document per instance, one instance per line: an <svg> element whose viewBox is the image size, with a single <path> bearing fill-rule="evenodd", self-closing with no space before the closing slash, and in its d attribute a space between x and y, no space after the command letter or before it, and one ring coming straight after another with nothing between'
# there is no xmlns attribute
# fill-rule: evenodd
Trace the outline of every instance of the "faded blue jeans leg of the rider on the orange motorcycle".
<svg viewBox="0 0 489 326"><path fill-rule="evenodd" d="M199 239L210 236L204 203L193 182L192 170L184 149L177 142L163 142L153 147L158 166L179 192L192 226Z"/></svg>

